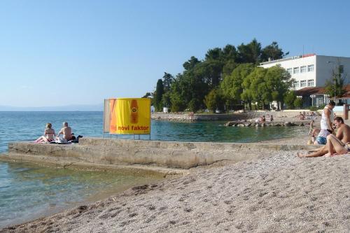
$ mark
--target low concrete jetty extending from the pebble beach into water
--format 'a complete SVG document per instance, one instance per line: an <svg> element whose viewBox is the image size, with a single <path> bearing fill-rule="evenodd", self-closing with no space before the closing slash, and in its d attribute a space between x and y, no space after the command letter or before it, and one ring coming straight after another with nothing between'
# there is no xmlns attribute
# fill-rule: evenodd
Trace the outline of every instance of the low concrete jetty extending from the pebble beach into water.
<svg viewBox="0 0 350 233"><path fill-rule="evenodd" d="M11 154L59 157L96 164L150 164L188 169L222 160L238 162L262 156L262 151L303 150L315 146L261 143L187 143L127 139L80 139L79 144L9 143ZM266 155L267 153L265 153Z"/></svg>

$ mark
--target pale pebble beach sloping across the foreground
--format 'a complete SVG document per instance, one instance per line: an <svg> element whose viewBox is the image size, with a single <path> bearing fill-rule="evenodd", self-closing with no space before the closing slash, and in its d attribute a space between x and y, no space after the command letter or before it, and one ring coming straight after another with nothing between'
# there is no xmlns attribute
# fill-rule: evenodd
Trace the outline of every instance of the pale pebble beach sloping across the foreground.
<svg viewBox="0 0 350 233"><path fill-rule="evenodd" d="M349 232L349 170L350 155L274 152L193 169L0 232Z"/></svg>

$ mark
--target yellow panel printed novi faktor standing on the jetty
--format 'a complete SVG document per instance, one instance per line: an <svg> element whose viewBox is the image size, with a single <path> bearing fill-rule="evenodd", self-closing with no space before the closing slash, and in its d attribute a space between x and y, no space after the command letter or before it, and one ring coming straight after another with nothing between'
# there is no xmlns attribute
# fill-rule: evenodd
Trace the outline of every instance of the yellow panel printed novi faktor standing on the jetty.
<svg viewBox="0 0 350 233"><path fill-rule="evenodd" d="M151 99L109 99L110 134L151 134Z"/></svg>

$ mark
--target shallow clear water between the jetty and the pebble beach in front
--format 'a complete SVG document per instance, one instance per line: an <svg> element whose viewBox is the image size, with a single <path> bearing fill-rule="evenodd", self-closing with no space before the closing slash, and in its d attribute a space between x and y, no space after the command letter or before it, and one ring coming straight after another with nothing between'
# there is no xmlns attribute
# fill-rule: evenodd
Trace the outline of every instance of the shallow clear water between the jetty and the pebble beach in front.
<svg viewBox="0 0 350 233"><path fill-rule="evenodd" d="M0 162L0 227L57 212L101 190L111 194L160 178Z"/></svg>

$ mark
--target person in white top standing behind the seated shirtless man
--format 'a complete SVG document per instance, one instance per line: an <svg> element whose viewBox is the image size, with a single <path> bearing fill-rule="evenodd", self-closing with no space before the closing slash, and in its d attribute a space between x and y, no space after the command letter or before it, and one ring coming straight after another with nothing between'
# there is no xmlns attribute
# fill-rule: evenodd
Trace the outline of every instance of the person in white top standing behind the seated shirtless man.
<svg viewBox="0 0 350 233"><path fill-rule="evenodd" d="M328 105L323 108L321 118L321 131L318 134L315 144L325 145L327 143L327 136L332 134L333 127L332 122L334 119L333 108L335 107L335 101L330 101Z"/></svg>

